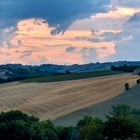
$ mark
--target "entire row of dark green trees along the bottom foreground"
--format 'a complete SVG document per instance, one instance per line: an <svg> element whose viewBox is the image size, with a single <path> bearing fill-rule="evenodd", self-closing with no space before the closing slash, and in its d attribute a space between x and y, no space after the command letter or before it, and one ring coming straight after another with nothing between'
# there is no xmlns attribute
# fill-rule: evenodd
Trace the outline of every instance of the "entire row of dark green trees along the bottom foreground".
<svg viewBox="0 0 140 140"><path fill-rule="evenodd" d="M55 126L51 121L20 111L0 114L0 139L3 140L139 140L140 109L113 106L106 119L89 116L76 126Z"/></svg>

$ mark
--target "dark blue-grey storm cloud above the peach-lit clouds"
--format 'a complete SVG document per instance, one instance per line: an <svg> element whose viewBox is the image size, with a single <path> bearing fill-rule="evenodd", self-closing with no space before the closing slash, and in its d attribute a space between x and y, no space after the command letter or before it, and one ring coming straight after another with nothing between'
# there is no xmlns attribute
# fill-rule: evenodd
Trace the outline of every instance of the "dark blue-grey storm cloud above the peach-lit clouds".
<svg viewBox="0 0 140 140"><path fill-rule="evenodd" d="M57 27L52 34L64 32L76 19L105 12L110 0L1 0L0 27L10 27L19 20L43 18Z"/></svg>

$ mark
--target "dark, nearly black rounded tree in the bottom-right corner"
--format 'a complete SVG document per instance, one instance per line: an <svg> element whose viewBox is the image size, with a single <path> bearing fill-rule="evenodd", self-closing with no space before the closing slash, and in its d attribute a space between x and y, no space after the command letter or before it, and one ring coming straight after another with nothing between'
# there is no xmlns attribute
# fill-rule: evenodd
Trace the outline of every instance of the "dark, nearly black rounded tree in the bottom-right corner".
<svg viewBox="0 0 140 140"><path fill-rule="evenodd" d="M115 116L105 122L103 135L106 140L126 140L134 136L140 138L140 124L129 116Z"/></svg>

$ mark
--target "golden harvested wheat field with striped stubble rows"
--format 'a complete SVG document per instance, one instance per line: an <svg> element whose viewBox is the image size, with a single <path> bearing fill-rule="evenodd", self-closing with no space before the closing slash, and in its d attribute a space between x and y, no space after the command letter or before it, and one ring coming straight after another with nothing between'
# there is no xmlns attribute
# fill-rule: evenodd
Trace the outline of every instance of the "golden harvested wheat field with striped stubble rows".
<svg viewBox="0 0 140 140"><path fill-rule="evenodd" d="M53 83L13 82L0 85L0 111L22 110L41 120L111 99L124 91L124 83L134 86L139 77L120 74Z"/></svg>

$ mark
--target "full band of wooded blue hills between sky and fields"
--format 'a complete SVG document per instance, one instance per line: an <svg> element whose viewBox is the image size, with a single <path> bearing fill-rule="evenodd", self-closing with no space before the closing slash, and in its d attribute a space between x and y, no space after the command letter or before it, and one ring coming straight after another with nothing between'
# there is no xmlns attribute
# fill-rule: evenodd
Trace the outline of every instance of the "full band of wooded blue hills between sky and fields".
<svg viewBox="0 0 140 140"><path fill-rule="evenodd" d="M91 63L85 65L53 65L43 64L38 66L6 64L0 65L0 79L14 78L14 80L44 77L51 75L63 75L65 73L79 73L90 71L110 70L112 66L140 66L140 61L118 61L106 63ZM11 79L8 79L11 81Z"/></svg>

